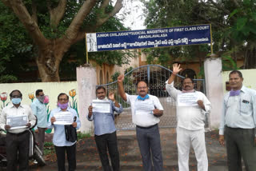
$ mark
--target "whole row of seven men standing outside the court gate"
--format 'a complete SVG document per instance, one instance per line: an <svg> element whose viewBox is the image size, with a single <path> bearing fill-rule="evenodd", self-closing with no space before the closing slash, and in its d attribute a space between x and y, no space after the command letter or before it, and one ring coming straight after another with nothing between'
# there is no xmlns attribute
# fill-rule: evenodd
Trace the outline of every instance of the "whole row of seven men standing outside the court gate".
<svg viewBox="0 0 256 171"><path fill-rule="evenodd" d="M190 145L198 161L198 171L208 170L204 120L210 113L211 104L206 95L194 89L192 78L182 79L182 90L174 87L174 79L182 70L174 63L173 72L166 81L166 90L176 101L177 113L177 146L178 169L189 171ZM158 97L148 93L145 81L137 83L138 95L130 95L123 87L124 75L118 76L118 93L124 101L130 104L132 121L136 125L136 136L142 156L145 171L162 171L162 149L158 123L164 109ZM219 142L226 145L227 164L230 171L242 171L242 160L246 171L256 170L256 91L242 85L242 73L238 70L230 72L231 90L223 100L222 119L219 128ZM94 139L97 145L102 169L104 171L119 171L117 133L114 125L114 112L122 113L122 105L115 100L114 93L109 93L103 86L98 86L96 96L98 101L109 104L107 111L97 110L95 104L88 107L87 119L94 121ZM15 170L17 163L20 170L28 169L29 134L27 129L34 127L39 147L43 152L44 133L46 129L54 128L54 148L58 159L58 170L65 170L65 153L69 162L69 170L76 169L76 141L68 141L65 126L56 123L57 113L69 113L74 122L71 124L79 129L81 122L78 113L69 107L69 97L66 93L58 95L58 108L50 112L47 121L46 106L43 105L42 89L36 91L37 99L30 105L21 105L22 93L15 89L10 93L11 105L2 109L0 127L6 129L7 170ZM8 125L8 118L26 116L26 126L14 129ZM36 117L35 117L36 116ZM225 135L225 138L224 138ZM111 166L107 156L110 154ZM17 158L19 159L17 161Z"/></svg>

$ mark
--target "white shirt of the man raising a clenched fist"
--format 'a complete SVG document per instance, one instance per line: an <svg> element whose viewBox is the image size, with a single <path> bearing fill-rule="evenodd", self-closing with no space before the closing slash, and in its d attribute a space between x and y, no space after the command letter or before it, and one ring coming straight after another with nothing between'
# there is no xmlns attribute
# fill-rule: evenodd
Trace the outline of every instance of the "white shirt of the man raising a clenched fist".
<svg viewBox="0 0 256 171"><path fill-rule="evenodd" d="M130 104L132 120L135 125L148 127L150 125L158 124L160 121L159 117L154 116L153 110L163 110L162 105L158 97L150 94L148 95L149 98L142 101L138 100L138 95L129 95L126 93L126 102Z"/></svg>

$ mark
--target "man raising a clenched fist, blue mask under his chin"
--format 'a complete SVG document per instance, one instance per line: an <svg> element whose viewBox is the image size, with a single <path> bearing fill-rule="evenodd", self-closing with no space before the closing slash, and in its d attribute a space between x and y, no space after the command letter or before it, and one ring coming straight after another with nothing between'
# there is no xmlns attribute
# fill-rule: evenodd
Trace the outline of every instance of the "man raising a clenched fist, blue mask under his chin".
<svg viewBox="0 0 256 171"><path fill-rule="evenodd" d="M124 75L118 76L118 92L122 99L130 104L133 123L136 125L138 146L142 155L145 171L162 170L162 151L158 123L163 114L162 105L153 95L148 94L148 86L144 81L137 84L138 95L125 93L122 82ZM154 167L152 165L153 159Z"/></svg>

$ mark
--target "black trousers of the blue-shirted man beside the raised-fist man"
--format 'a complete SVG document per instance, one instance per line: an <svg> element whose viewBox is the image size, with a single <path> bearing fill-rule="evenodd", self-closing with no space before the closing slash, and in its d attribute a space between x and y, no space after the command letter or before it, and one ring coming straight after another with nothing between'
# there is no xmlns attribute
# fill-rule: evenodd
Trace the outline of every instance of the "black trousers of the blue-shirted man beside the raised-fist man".
<svg viewBox="0 0 256 171"><path fill-rule="evenodd" d="M120 161L118 153L118 139L117 133L106 133L100 136L94 136L98 148L98 154L102 161L104 171L111 171L109 158L106 150L109 150L111 165L114 171L120 170Z"/></svg>

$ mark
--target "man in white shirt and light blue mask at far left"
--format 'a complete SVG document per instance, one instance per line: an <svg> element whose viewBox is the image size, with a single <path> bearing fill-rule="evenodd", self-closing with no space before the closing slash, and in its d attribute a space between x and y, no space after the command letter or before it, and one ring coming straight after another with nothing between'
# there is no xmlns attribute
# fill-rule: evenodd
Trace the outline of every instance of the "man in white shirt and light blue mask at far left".
<svg viewBox="0 0 256 171"><path fill-rule="evenodd" d="M19 170L28 170L30 133L27 129L34 126L36 117L34 117L30 106L21 104L22 93L18 89L10 93L10 100L12 104L2 109L0 116L0 127L7 131L7 170L17 170L17 164ZM8 120L15 121L11 123ZM24 121L27 121L25 125L16 126Z"/></svg>

